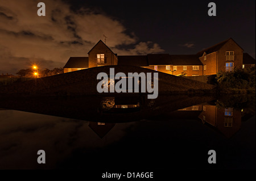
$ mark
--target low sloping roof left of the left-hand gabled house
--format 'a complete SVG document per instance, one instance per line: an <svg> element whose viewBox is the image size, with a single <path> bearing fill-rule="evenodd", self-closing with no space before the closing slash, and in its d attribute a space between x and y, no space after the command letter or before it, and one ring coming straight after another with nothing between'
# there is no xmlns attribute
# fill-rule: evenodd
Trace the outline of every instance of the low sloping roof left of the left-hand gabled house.
<svg viewBox="0 0 256 181"><path fill-rule="evenodd" d="M64 68L88 68L88 57L70 57Z"/></svg>

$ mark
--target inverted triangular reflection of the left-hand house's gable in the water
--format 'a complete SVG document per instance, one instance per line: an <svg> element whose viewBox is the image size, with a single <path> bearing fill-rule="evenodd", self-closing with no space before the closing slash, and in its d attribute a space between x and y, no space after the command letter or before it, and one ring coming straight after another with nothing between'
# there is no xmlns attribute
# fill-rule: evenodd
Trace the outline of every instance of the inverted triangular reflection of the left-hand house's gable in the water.
<svg viewBox="0 0 256 181"><path fill-rule="evenodd" d="M90 122L89 127L96 133L100 138L103 138L113 127L115 123L105 123L105 125L98 125L97 122Z"/></svg>

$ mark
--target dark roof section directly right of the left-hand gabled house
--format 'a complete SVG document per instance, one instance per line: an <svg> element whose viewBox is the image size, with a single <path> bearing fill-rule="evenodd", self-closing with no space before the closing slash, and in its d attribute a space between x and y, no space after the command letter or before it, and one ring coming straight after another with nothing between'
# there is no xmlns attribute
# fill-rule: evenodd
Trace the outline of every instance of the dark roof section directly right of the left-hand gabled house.
<svg viewBox="0 0 256 181"><path fill-rule="evenodd" d="M147 56L118 56L118 65L148 66Z"/></svg>

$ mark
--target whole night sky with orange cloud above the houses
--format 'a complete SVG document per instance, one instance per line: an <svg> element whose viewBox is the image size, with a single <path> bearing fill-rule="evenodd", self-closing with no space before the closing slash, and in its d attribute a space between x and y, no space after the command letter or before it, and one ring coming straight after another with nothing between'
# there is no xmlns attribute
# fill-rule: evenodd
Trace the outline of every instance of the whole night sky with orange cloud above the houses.
<svg viewBox="0 0 256 181"><path fill-rule="evenodd" d="M195 54L232 37L255 58L255 1L0 1L0 73L63 67L103 35L119 55Z"/></svg>

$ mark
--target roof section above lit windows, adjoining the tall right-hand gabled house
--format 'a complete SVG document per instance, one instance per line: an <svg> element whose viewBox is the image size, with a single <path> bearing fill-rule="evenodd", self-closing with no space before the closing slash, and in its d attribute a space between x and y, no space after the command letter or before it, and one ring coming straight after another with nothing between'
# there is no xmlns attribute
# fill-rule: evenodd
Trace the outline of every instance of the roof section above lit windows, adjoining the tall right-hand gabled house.
<svg viewBox="0 0 256 181"><path fill-rule="evenodd" d="M195 54L170 55L172 65L203 65Z"/></svg>

